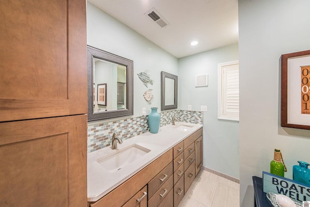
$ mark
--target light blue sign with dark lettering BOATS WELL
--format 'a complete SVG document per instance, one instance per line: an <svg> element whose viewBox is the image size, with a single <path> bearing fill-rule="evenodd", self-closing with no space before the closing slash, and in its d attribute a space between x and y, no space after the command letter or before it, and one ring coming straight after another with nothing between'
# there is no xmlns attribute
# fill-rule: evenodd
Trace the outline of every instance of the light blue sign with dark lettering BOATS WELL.
<svg viewBox="0 0 310 207"><path fill-rule="evenodd" d="M283 194L297 202L310 201L310 186L263 171L263 191Z"/></svg>

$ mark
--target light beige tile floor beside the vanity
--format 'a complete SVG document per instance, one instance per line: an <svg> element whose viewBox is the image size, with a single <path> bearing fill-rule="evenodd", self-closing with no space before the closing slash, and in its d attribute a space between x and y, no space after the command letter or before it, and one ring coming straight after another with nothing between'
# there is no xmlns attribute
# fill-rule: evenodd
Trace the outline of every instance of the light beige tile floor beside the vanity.
<svg viewBox="0 0 310 207"><path fill-rule="evenodd" d="M201 170L178 207L239 207L239 183Z"/></svg>

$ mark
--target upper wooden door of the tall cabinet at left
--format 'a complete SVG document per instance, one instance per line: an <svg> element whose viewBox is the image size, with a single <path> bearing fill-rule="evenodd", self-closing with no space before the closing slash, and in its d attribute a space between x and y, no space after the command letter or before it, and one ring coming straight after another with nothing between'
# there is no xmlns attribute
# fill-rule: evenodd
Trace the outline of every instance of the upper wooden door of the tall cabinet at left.
<svg viewBox="0 0 310 207"><path fill-rule="evenodd" d="M2 0L0 122L87 113L86 1Z"/></svg>

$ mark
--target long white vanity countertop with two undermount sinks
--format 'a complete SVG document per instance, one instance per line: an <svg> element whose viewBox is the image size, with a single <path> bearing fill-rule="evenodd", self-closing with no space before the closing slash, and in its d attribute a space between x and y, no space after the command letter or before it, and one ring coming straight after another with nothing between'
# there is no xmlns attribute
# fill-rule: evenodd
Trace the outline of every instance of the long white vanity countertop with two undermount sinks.
<svg viewBox="0 0 310 207"><path fill-rule="evenodd" d="M99 200L201 127L178 122L160 127L157 134L146 132L123 140L117 149L106 147L89 153L88 201Z"/></svg>

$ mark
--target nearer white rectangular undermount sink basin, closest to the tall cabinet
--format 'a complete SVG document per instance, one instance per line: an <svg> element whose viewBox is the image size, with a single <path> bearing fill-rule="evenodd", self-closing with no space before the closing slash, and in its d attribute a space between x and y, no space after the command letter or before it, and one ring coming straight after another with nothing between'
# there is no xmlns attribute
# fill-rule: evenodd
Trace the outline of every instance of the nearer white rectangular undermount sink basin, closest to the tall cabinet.
<svg viewBox="0 0 310 207"><path fill-rule="evenodd" d="M116 172L151 150L139 144L131 144L123 149L97 159L97 162L110 173Z"/></svg>

